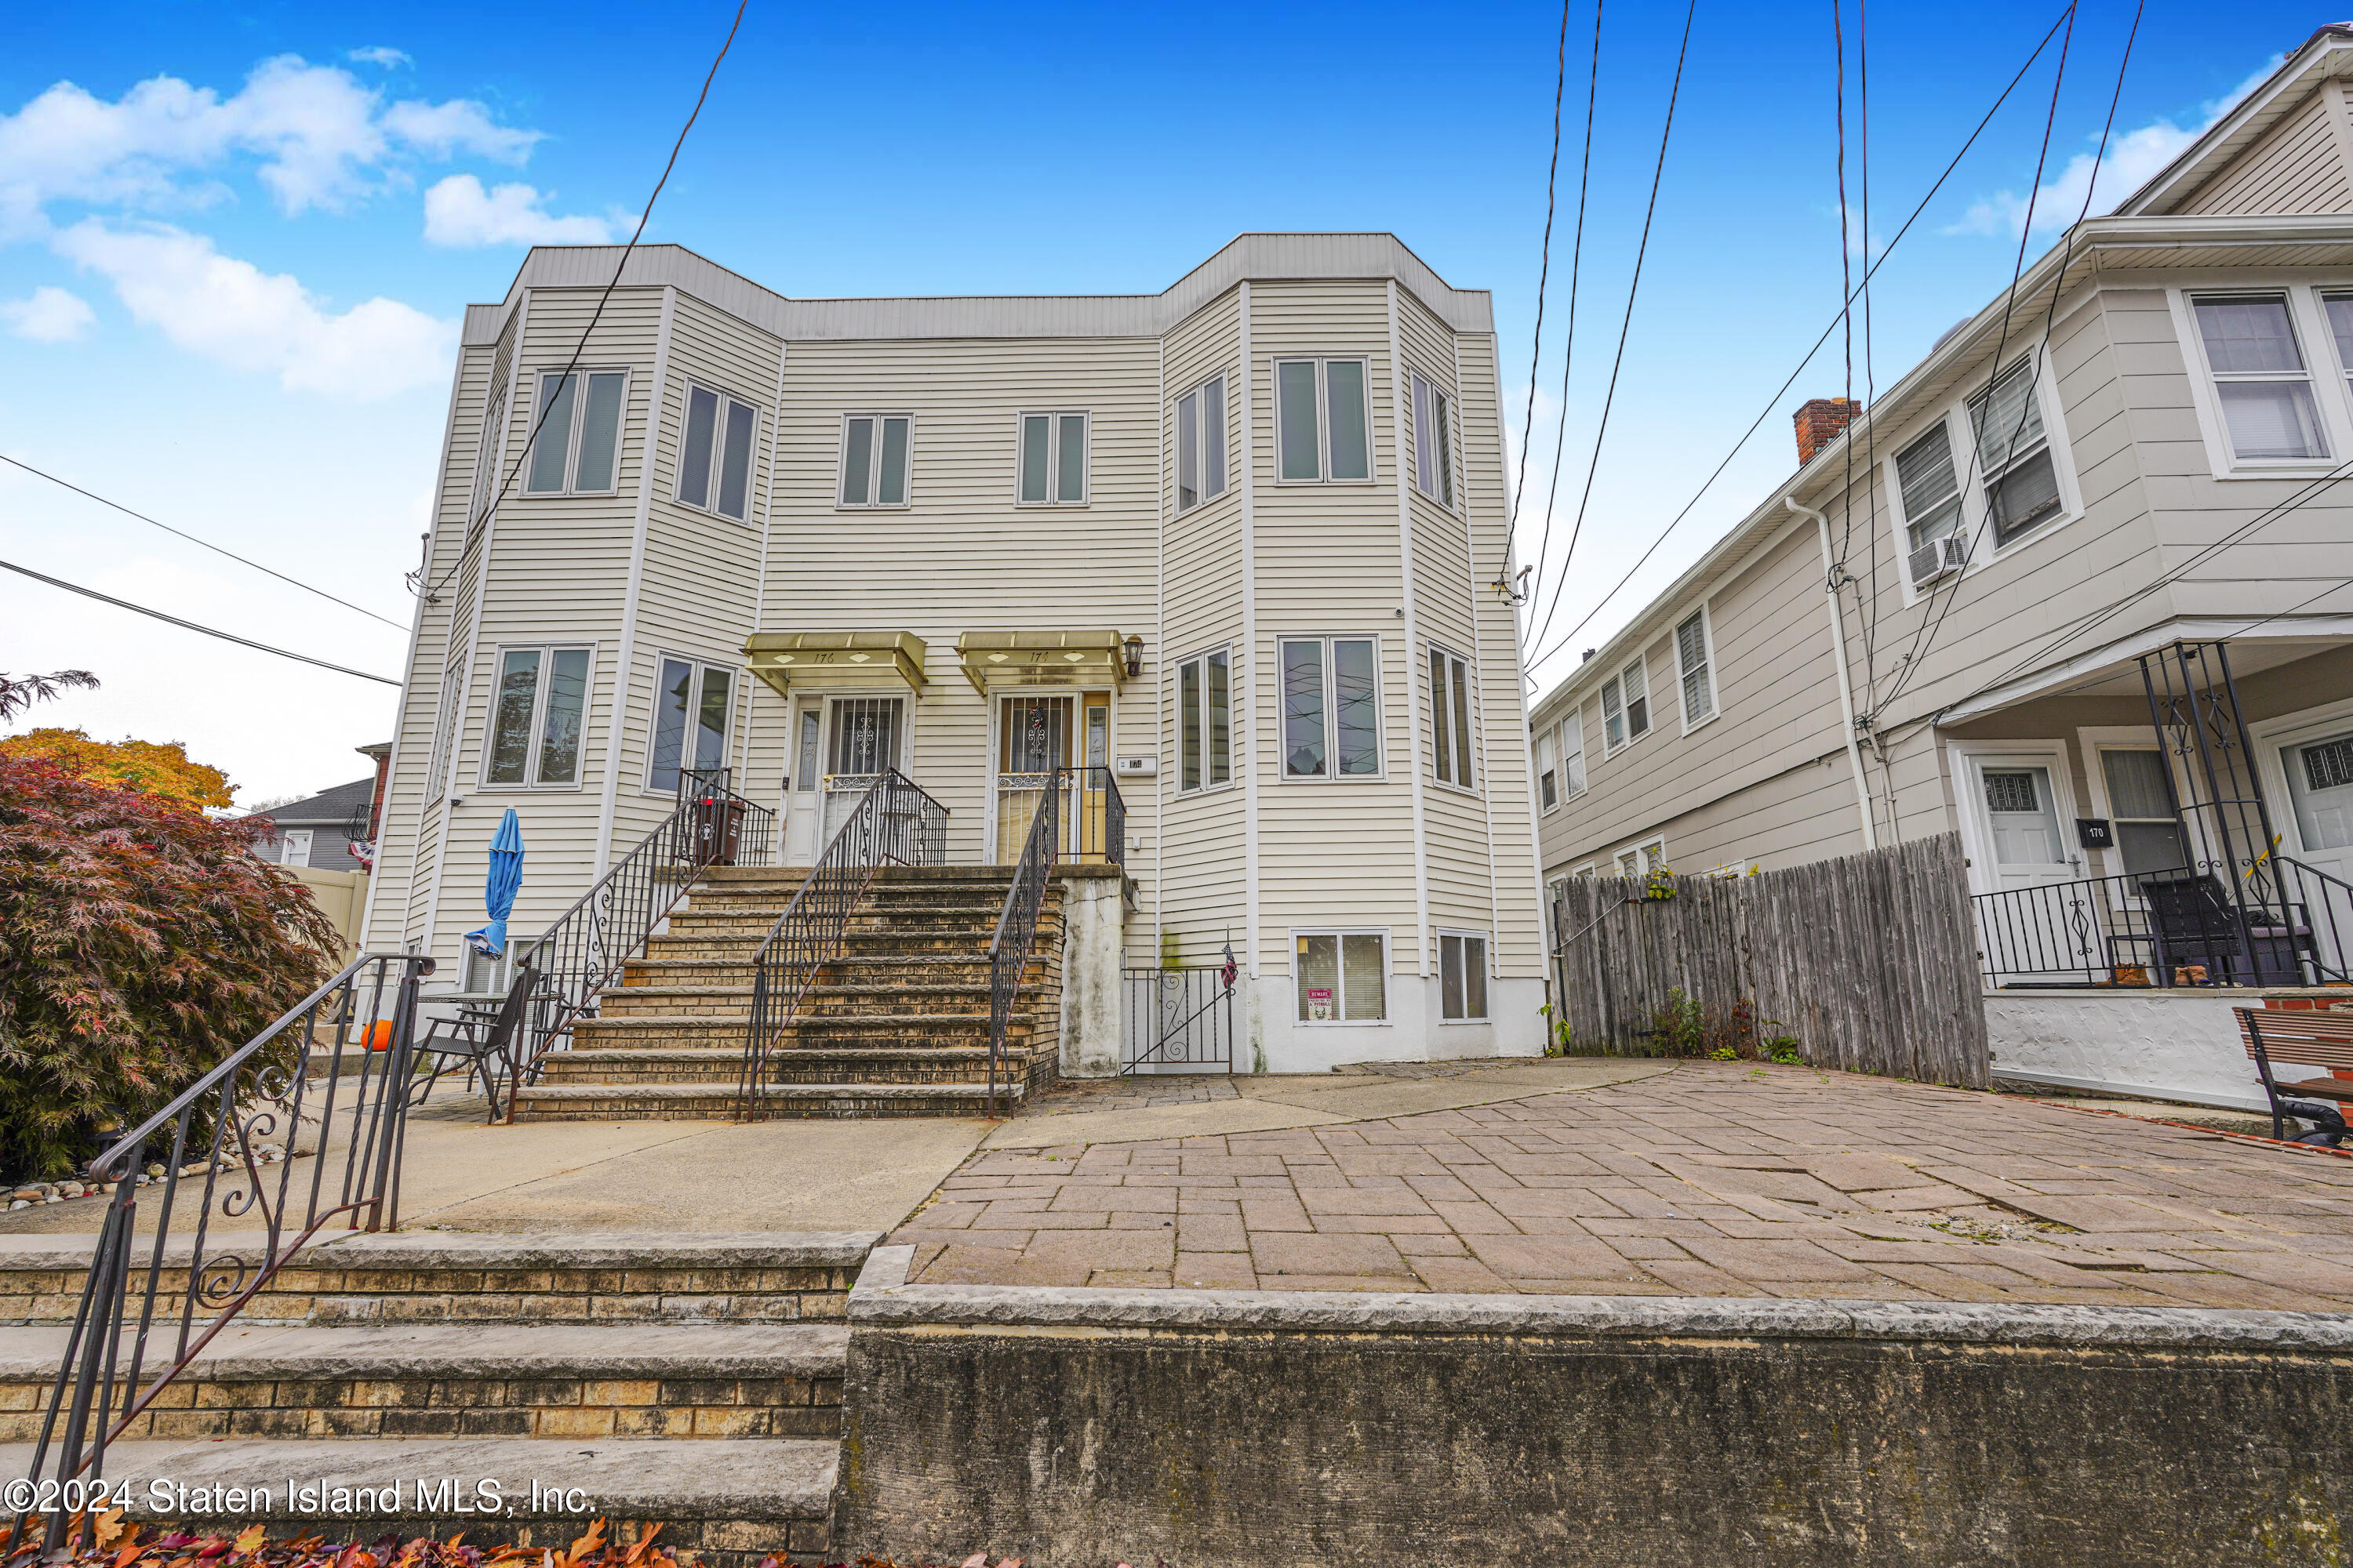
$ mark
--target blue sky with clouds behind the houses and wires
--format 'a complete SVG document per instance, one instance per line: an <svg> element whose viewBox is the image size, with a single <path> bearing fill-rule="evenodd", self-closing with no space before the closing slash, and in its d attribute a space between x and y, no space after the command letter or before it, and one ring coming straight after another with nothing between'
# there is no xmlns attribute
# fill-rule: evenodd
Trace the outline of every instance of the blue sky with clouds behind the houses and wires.
<svg viewBox="0 0 2353 1568"><path fill-rule="evenodd" d="M1899 9L1871 26L1875 242L1934 181L2059 5ZM2104 209L2325 14L2155 0ZM73 5L0 54L0 451L407 625L466 301L534 237L626 233L729 7ZM1452 21L1447 21L1452 19ZM1544 529L1593 12L1569 103L1537 461ZM1849 47L1849 197L1861 103ZM2040 212L2082 200L2132 5L2085 0ZM1835 315L1831 7L1701 0L1626 364L1574 559L1682 7L1602 21L1598 132L1546 642L1692 496ZM786 294L1155 292L1235 233L1386 228L1494 289L1527 395L1560 12L1544 5L784 7L751 0L649 240ZM1873 284L1889 386L2017 259L2057 47ZM1859 230L1859 216L1857 216ZM2038 216L2031 252L2057 237ZM1668 583L1793 465L1788 407L1842 388L1838 339L1617 599ZM1861 348L1857 348L1861 353ZM1857 393L1864 369L1857 364ZM405 630L325 604L14 470L0 559L336 663L400 675ZM106 686L35 710L186 741L240 799L365 771L395 696L19 576L0 670ZM19 722L24 726L26 719Z"/></svg>

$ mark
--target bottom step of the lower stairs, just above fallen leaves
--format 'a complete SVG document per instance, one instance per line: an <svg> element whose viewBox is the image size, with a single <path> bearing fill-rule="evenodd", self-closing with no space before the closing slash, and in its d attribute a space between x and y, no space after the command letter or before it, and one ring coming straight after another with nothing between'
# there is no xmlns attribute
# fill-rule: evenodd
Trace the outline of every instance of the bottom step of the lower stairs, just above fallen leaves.
<svg viewBox="0 0 2353 1568"><path fill-rule="evenodd" d="M120 1443L106 1450L106 1474L139 1479L127 1493L132 1519L172 1519L198 1535L268 1521L273 1537L449 1540L464 1530L475 1547L565 1552L607 1519L609 1540L635 1544L642 1526L659 1523L654 1544L680 1561L753 1568L769 1554L826 1561L838 1455L831 1439L200 1439ZM24 1476L31 1460L31 1443L0 1448L0 1481ZM151 1507L151 1479L181 1488L165 1502L193 1507ZM372 1490L362 1497L362 1488ZM473 1507L461 1514L452 1502Z"/></svg>

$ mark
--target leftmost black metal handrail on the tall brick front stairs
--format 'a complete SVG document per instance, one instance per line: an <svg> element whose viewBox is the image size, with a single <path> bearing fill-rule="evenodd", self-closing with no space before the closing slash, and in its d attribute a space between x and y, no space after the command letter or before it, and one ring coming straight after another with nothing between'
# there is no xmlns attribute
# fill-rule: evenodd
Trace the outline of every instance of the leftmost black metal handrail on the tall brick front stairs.
<svg viewBox="0 0 2353 1568"><path fill-rule="evenodd" d="M598 997L628 959L645 952L701 872L713 865L767 865L774 844L776 813L736 795L727 769L682 771L671 816L581 893L546 936L515 940L539 969L539 990L525 1027L513 1037L511 1086L534 1077L541 1058L572 1037L572 1025L595 1013ZM506 1119L515 1119L513 1093Z"/></svg>

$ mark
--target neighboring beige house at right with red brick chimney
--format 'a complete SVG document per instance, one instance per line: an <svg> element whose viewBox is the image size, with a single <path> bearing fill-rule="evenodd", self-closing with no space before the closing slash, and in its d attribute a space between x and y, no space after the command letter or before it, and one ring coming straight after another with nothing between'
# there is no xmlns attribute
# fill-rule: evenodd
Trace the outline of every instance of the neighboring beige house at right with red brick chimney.
<svg viewBox="0 0 2353 1568"><path fill-rule="evenodd" d="M2353 957L2348 75L2322 28L1868 411L1798 414L1798 473L1534 703L1551 882L1960 832L1995 1072L2035 990L2115 1046L2045 1077L2249 1098L2158 992ZM2047 1023L2141 985L2160 1023Z"/></svg>

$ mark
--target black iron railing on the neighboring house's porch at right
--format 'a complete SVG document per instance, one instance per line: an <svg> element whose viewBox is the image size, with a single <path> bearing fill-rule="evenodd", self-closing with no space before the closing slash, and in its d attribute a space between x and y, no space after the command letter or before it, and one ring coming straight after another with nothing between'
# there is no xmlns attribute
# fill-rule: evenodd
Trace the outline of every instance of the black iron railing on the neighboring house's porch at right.
<svg viewBox="0 0 2353 1568"><path fill-rule="evenodd" d="M2353 884L2289 856L2082 877L1969 903L1988 985L2353 983Z"/></svg>

